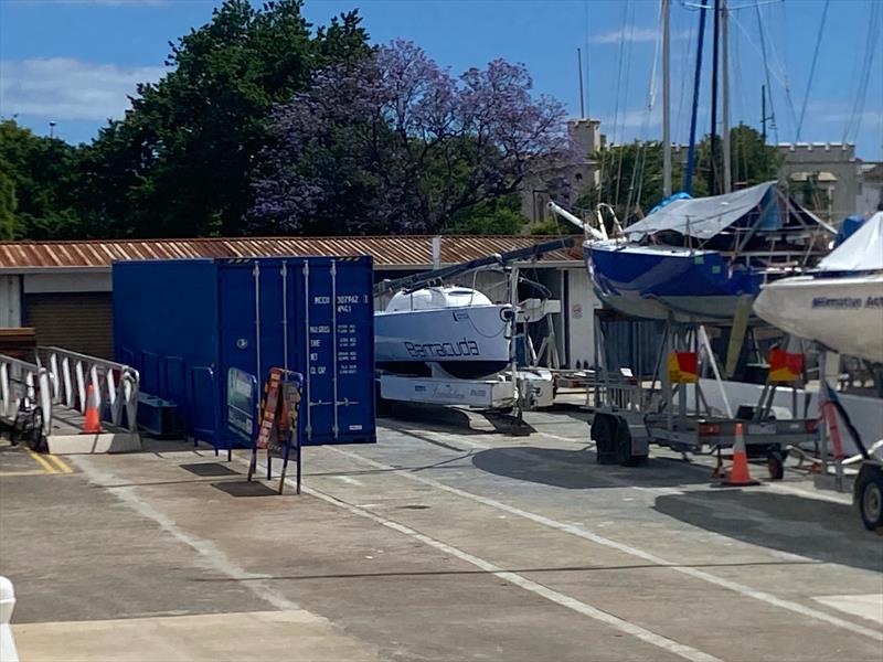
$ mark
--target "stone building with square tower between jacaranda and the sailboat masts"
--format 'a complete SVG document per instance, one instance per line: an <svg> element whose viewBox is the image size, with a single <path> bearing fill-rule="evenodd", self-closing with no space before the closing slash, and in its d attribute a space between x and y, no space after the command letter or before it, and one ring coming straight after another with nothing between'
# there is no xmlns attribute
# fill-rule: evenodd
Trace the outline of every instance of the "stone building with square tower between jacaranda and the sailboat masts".
<svg viewBox="0 0 883 662"><path fill-rule="evenodd" d="M550 200L571 206L585 188L598 183L598 169L589 156L604 147L600 120L572 119L567 134L573 149L534 159L519 186L521 213L531 222L547 216Z"/></svg>

